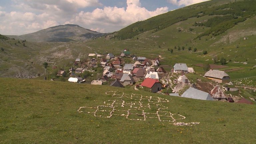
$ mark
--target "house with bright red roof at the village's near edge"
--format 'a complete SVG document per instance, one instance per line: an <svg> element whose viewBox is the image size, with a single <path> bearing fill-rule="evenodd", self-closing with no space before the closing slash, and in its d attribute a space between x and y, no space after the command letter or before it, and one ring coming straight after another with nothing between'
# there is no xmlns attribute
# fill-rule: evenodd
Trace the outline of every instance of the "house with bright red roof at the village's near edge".
<svg viewBox="0 0 256 144"><path fill-rule="evenodd" d="M146 78L142 83L141 86L150 88L151 92L155 93L162 89L162 84L157 79Z"/></svg>

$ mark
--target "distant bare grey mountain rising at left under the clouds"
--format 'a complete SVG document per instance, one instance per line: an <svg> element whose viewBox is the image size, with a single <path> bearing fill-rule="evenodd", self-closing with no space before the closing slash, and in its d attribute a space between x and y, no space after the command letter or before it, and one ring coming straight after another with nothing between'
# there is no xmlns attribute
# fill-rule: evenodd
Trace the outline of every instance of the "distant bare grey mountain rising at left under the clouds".
<svg viewBox="0 0 256 144"><path fill-rule="evenodd" d="M43 29L34 33L20 35L20 36L13 36L13 35L6 35L10 38L20 39L20 40L27 40L30 42L69 42L73 41L73 39L82 39L88 40L96 37L103 36L105 34L99 33L96 31L92 31L89 29L85 29L80 27L79 25L73 24L66 24L66 25L59 25L50 27L47 29Z"/></svg>

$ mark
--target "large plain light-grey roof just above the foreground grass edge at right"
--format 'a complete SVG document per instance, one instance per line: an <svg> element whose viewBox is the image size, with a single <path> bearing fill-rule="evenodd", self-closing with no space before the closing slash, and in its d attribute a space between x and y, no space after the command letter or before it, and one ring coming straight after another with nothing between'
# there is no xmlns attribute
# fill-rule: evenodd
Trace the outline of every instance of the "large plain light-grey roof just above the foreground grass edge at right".
<svg viewBox="0 0 256 144"><path fill-rule="evenodd" d="M200 91L200 90L192 88L192 87L190 87L188 90L186 90L181 95L181 97L200 99L200 100L214 100L209 93Z"/></svg>

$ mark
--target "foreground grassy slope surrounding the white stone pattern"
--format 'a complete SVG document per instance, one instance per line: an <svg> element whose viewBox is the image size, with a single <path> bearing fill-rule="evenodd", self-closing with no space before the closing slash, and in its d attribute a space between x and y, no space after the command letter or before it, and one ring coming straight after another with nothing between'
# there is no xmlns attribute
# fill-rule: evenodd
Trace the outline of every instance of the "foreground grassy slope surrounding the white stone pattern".
<svg viewBox="0 0 256 144"><path fill-rule="evenodd" d="M14 82L15 81L15 82ZM255 105L202 101L170 97L142 91L56 81L0 78L0 142L5 143L254 143ZM97 107L118 100L111 92L122 91L168 100L164 111L185 116L177 122L200 122L193 126L175 126L174 122L147 118L128 120L125 116L95 117L78 112L80 107ZM136 95L135 95L136 96ZM138 95L137 95L138 96ZM164 100L164 101L166 101ZM129 103L129 99L125 100ZM133 102L138 100L133 99ZM146 101L143 101L146 103ZM151 103L154 113L157 108ZM116 105L118 106L118 105ZM136 105L135 105L136 106ZM133 106L133 108L135 108ZM120 106L116 109L121 108ZM125 107L128 108L128 107ZM136 108L135 108L136 109ZM86 111L86 109L81 109ZM87 111L93 112L92 109ZM163 110L161 110L163 111ZM130 111L140 113L141 111ZM161 113L161 112L160 112ZM162 112L163 120L167 112ZM119 114L118 112L114 114ZM121 114L121 113L120 113ZM96 115L99 115L97 113ZM106 116L105 112L101 112ZM140 115L131 118L143 119ZM130 116L128 118L130 118ZM154 114L148 115L154 117ZM174 118L182 118L173 115Z"/></svg>

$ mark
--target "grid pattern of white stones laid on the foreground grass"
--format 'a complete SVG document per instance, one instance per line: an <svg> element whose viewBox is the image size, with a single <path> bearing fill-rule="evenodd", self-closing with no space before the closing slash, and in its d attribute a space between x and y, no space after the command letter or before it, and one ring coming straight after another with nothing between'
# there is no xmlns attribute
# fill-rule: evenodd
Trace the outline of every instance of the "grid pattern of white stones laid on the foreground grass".
<svg viewBox="0 0 256 144"><path fill-rule="evenodd" d="M163 111L168 109L164 106L164 103L168 103L169 100L154 97L143 96L141 94L131 95L125 94L121 91L108 91L106 95L111 95L115 100L104 101L105 105L97 107L80 107L78 113L87 112L93 113L95 117L111 118L112 116L124 116L128 120L134 121L146 121L148 118L156 118L161 122L170 122L177 126L196 125L199 122L177 122L177 120L183 120L186 117L180 114L174 114L169 111ZM149 113L147 110L156 109L155 112ZM83 110L84 109L84 110ZM152 110L151 110L152 111Z"/></svg>

